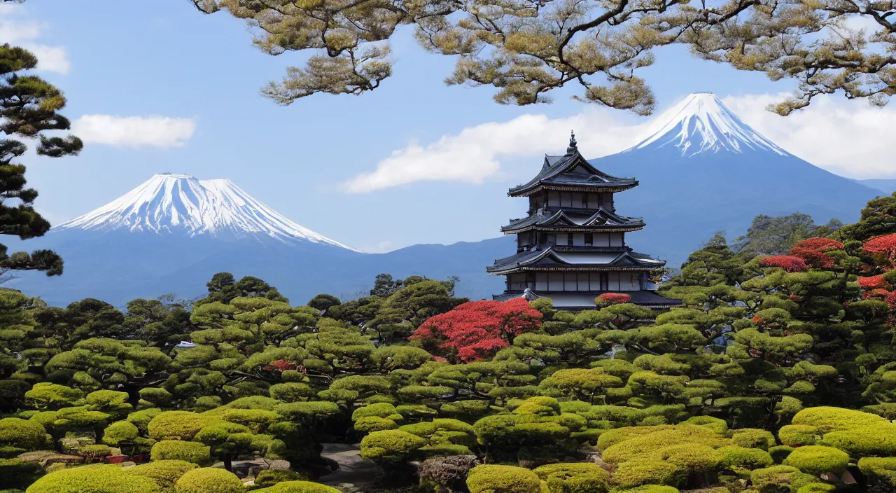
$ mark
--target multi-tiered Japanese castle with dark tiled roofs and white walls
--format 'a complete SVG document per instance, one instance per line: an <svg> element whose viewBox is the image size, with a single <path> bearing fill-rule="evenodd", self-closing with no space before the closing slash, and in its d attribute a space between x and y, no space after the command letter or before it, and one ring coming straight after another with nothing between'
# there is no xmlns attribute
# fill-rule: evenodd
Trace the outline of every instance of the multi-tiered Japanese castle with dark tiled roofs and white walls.
<svg viewBox="0 0 896 493"><path fill-rule="evenodd" d="M501 230L516 235L516 255L487 267L504 275L507 288L493 298L551 298L554 307L595 307L602 293L625 293L645 307L674 307L677 300L654 292L654 272L664 260L625 246L625 233L644 227L642 218L616 213L613 195L638 186L634 178L595 169L576 147L575 134L563 156L545 156L529 183L507 195L529 198L529 215Z"/></svg>

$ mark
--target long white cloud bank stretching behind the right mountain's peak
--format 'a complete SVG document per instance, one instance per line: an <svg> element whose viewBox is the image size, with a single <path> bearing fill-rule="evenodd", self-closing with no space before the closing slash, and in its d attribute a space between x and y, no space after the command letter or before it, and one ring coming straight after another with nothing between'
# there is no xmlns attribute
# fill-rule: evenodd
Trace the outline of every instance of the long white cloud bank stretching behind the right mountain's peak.
<svg viewBox="0 0 896 493"><path fill-rule="evenodd" d="M816 98L809 108L789 117L766 109L786 97L788 94L752 94L723 101L745 123L816 166L849 177L896 177L891 158L896 104L874 108L864 100L835 96ZM435 143L409 143L380 160L376 169L343 185L350 194L422 181L478 185L500 176L502 160L562 153L571 129L576 130L579 148L589 158L599 158L640 142L669 117L660 112L649 121L632 125L623 121L622 112L598 107L585 107L578 115L565 118L523 115L468 127Z"/></svg>

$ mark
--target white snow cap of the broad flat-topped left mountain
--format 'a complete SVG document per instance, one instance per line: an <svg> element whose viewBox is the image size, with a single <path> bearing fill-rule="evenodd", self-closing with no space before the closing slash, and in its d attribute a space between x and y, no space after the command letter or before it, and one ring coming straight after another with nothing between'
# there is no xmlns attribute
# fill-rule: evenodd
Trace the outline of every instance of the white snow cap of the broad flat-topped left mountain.
<svg viewBox="0 0 896 493"><path fill-rule="evenodd" d="M190 175L154 175L116 200L54 229L266 236L354 250L280 215L228 179L200 181Z"/></svg>

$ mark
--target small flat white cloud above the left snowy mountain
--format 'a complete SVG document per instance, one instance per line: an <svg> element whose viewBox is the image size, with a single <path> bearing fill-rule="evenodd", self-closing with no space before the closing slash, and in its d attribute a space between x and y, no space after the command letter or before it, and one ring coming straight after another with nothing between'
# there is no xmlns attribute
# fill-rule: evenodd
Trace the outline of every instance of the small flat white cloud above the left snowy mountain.
<svg viewBox="0 0 896 493"><path fill-rule="evenodd" d="M193 118L84 115L72 124L85 143L126 147L181 147L196 129Z"/></svg>

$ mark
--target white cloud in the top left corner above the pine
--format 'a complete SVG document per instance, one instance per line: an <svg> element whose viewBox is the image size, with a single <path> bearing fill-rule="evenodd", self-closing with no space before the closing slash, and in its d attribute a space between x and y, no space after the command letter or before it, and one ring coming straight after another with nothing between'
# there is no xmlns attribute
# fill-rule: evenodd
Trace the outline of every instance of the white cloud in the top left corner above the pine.
<svg viewBox="0 0 896 493"><path fill-rule="evenodd" d="M10 43L29 50L38 57L38 70L68 74L71 64L63 47L47 46L39 38L47 29L44 22L21 17L21 5L0 5L0 43Z"/></svg>

